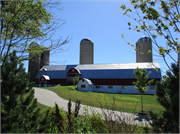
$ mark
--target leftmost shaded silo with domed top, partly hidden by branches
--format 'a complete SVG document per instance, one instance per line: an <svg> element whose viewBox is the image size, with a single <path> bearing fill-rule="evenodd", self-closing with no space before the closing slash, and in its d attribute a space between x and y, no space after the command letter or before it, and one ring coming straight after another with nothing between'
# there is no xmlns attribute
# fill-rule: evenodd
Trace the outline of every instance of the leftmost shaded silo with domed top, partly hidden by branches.
<svg viewBox="0 0 180 134"><path fill-rule="evenodd" d="M40 44L36 41L33 41L30 45L33 47L39 47ZM39 71L40 68L40 57L41 54L32 54L29 53L29 67L28 67L28 73L30 73L30 82L35 81L35 77Z"/></svg>

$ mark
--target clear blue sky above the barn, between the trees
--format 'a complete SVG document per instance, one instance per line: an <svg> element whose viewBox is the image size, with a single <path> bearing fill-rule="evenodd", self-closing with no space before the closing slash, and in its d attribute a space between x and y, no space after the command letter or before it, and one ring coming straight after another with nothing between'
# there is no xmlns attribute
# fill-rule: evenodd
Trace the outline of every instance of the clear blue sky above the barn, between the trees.
<svg viewBox="0 0 180 134"><path fill-rule="evenodd" d="M62 0L64 10L54 14L64 19L66 24L56 30L53 38L70 36L72 39L63 46L65 52L51 54L50 65L79 64L80 41L83 38L89 38L94 43L94 64L135 63L134 47L127 45L126 41L136 44L145 34L128 29L127 22L133 24L133 20L123 15L119 8L122 4L132 7L129 0ZM125 40L121 34L125 35ZM161 37L157 41L166 45ZM153 54L158 55L154 50ZM177 59L177 54L173 57ZM167 60L171 63L170 58ZM153 61L159 62L163 71L167 70L162 58L153 56ZM25 67L27 71L28 63Z"/></svg>

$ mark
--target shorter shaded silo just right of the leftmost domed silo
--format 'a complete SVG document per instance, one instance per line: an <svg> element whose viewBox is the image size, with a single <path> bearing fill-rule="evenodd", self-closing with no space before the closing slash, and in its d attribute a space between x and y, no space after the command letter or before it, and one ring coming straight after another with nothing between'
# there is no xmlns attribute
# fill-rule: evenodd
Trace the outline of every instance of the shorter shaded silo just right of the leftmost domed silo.
<svg viewBox="0 0 180 134"><path fill-rule="evenodd" d="M50 57L50 50L46 48L43 53L41 53L41 62L40 68L47 65L49 66L49 57Z"/></svg>

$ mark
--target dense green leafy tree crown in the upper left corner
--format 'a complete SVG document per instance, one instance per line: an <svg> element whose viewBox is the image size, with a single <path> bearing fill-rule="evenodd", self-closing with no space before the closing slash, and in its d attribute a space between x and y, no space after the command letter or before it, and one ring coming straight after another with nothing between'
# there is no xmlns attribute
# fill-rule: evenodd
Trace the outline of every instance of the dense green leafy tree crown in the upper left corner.
<svg viewBox="0 0 180 134"><path fill-rule="evenodd" d="M38 49L28 49L31 39L43 39L47 33L52 15L38 1L1 1L1 53L11 49L40 53ZM4 58L5 59L5 58Z"/></svg>

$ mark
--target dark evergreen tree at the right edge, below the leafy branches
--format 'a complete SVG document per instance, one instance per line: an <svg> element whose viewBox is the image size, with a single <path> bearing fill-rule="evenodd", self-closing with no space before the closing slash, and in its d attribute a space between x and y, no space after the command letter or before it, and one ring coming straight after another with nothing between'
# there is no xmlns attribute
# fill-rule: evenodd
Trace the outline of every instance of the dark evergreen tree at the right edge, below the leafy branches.
<svg viewBox="0 0 180 134"><path fill-rule="evenodd" d="M156 83L158 102L165 108L162 117L150 112L154 132L179 133L179 65L172 64L164 79ZM176 74L176 76L174 75Z"/></svg>

